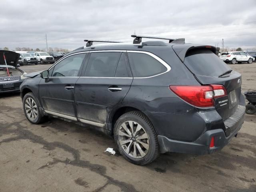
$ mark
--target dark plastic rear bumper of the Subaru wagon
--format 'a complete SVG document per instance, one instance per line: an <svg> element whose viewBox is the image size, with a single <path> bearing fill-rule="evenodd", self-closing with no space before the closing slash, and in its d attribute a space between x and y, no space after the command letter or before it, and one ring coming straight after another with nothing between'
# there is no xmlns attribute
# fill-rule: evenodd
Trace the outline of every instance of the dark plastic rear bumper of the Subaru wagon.
<svg viewBox="0 0 256 192"><path fill-rule="evenodd" d="M158 135L160 152L179 152L188 154L211 154L226 146L237 134L244 123L245 107L239 105L236 112L224 121L226 133L223 129L214 129L204 132L194 142L172 140L166 136ZM228 135L228 136L226 136ZM211 138L214 137L214 147L210 148Z"/></svg>

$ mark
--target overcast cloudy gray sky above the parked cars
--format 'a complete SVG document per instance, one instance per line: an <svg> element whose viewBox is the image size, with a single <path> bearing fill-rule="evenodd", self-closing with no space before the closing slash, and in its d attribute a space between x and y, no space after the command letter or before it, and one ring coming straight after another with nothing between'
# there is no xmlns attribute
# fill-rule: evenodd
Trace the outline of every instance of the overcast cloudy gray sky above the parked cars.
<svg viewBox="0 0 256 192"><path fill-rule="evenodd" d="M131 34L256 48L256 0L1 0L0 48L73 50Z"/></svg>

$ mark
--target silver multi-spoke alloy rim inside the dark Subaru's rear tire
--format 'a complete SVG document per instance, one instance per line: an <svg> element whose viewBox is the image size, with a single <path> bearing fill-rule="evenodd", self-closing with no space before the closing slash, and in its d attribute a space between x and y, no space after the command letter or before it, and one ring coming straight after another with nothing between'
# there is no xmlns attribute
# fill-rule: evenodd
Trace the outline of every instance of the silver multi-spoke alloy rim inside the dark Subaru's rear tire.
<svg viewBox="0 0 256 192"><path fill-rule="evenodd" d="M133 158L142 158L148 152L148 134L137 122L124 122L118 130L118 140L124 152Z"/></svg>

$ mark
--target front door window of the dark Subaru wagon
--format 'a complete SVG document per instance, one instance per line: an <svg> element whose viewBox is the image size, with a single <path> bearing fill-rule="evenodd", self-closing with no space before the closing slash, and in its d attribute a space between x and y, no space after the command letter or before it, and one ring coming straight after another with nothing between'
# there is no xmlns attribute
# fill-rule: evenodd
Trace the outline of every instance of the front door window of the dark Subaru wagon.
<svg viewBox="0 0 256 192"><path fill-rule="evenodd" d="M85 53L76 54L60 61L52 72L53 77L76 77L85 57Z"/></svg>

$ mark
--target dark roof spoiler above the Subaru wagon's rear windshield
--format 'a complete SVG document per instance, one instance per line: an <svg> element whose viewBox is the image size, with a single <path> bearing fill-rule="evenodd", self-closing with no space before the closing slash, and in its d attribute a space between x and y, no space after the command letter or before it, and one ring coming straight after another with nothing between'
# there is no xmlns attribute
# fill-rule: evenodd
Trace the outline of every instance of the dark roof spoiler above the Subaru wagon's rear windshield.
<svg viewBox="0 0 256 192"><path fill-rule="evenodd" d="M217 48L214 46L208 46L208 45L195 45L195 44L175 44L172 46L172 49L176 53L176 55L180 58L182 62L184 62L186 53L189 50L192 49L198 49L198 48L206 48L211 50L214 54L216 54Z"/></svg>

